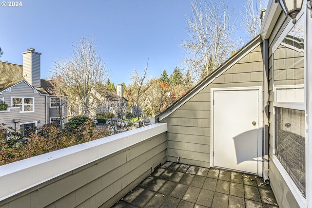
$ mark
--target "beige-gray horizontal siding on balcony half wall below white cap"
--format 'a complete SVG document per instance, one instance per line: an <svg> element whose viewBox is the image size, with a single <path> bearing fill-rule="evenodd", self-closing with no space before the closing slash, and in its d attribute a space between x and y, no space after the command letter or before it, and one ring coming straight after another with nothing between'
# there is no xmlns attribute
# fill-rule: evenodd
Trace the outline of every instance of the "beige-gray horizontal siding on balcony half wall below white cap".
<svg viewBox="0 0 312 208"><path fill-rule="evenodd" d="M166 133L0 202L0 208L111 207L166 161Z"/></svg>

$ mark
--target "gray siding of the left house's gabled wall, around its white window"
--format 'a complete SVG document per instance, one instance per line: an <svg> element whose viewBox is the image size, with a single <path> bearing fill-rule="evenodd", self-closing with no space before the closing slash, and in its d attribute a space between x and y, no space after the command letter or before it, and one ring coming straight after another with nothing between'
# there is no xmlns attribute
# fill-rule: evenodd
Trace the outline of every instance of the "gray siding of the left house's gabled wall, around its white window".
<svg viewBox="0 0 312 208"><path fill-rule="evenodd" d="M31 88L24 82L20 82L11 88L11 92L3 92L4 102L9 106L12 106L11 97L34 97L35 99L35 111L31 113L20 113L19 118L20 123L24 122L35 122L37 121L37 126L41 127L45 124L46 120L46 104L45 95L40 95L39 93L34 93L34 89ZM14 114L12 114L12 120L16 119ZM2 119L1 119L2 120ZM38 122L40 121L40 123Z"/></svg>

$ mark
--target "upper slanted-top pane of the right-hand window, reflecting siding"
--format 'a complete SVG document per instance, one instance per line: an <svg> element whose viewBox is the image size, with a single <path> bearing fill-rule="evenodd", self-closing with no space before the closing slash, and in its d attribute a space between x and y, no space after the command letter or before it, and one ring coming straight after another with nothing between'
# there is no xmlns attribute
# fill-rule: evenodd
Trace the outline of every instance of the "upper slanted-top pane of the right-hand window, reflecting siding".
<svg viewBox="0 0 312 208"><path fill-rule="evenodd" d="M274 51L275 102L304 102L304 22L300 18Z"/></svg>

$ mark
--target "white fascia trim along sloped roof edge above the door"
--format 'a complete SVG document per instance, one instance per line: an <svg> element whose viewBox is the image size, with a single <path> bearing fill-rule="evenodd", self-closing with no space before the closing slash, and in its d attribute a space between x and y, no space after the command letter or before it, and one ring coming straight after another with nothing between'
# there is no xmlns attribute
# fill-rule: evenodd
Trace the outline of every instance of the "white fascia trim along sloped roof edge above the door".
<svg viewBox="0 0 312 208"><path fill-rule="evenodd" d="M257 44L254 45L254 47L250 48L249 50L247 50L245 53L240 54L240 57L245 57L247 54L249 54L250 52L252 52L256 47L258 47L261 44L261 42L258 42ZM234 57L233 57L234 58ZM186 103L187 101L189 101L192 97L194 97L196 94L198 94L200 91L202 91L205 87L207 87L210 83L212 83L215 78L219 77L220 75L222 75L224 72L226 72L229 68L231 68L234 64L236 64L241 58L237 58L236 61L234 61L232 64L230 64L229 66L227 66L226 68L224 68L222 71L217 72L214 76L214 78L212 78L209 82L207 82L205 85L203 85L202 87L196 89L195 91L192 92L193 96L190 96L188 98L186 98L183 102L177 104L175 107L173 107L170 111L164 113L163 115L159 116L159 121L161 121L162 119L166 118L168 115L170 115L171 113L175 112L178 108L180 108L184 103Z"/></svg>

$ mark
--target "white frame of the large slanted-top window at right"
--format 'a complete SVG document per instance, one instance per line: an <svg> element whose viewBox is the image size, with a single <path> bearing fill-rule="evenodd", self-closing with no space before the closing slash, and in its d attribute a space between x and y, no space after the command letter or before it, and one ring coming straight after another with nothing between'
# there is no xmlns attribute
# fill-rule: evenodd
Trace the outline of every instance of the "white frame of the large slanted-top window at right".
<svg viewBox="0 0 312 208"><path fill-rule="evenodd" d="M303 22L304 22L304 50L305 50L305 57L304 57L304 68L306 68L306 17L304 14L305 12L305 7L304 7L305 2L303 3L303 8L300 11L300 13L297 15L296 19L299 18L303 18ZM284 102L275 102L275 97L274 95L276 95L276 89L279 89L280 86L274 86L274 52L276 51L276 49L278 48L278 46L281 44L281 42L283 41L283 39L286 37L286 35L288 35L288 33L292 30L292 27L294 26L294 24L292 23L291 19L289 19L286 27L284 28L283 32L280 34L280 36L277 38L277 40L275 41L275 43L272 46L272 82L273 82L273 141L272 141L272 145L273 145L273 157L272 157L272 161L274 163L274 165L276 166L277 170L279 170L279 172L281 173L283 179L285 180L286 184L288 185L289 189L292 192L292 195L294 196L294 198L296 199L298 205L300 207L306 207L307 204L307 200L306 198L301 194L301 191L297 188L296 184L293 182L292 178L290 177L290 175L288 174L288 172L285 170L285 168L283 167L283 165L281 164L281 162L278 160L278 158L275 156L275 107L281 107L281 108L288 108L288 109L295 109L295 110L301 110L301 111L305 111L306 110L306 105L305 102L303 103L284 103ZM304 86L306 86L306 75L304 76ZM302 87L302 85L298 85L298 87ZM305 89L306 92L306 89ZM306 95L306 93L305 93ZM306 100L306 98L305 98ZM306 135L307 136L307 135ZM306 143L305 145L307 145L307 137L306 137ZM306 159L308 157L308 152L305 152L305 156ZM308 195L309 191L307 189L307 169L308 169L308 164L306 163L306 197Z"/></svg>

